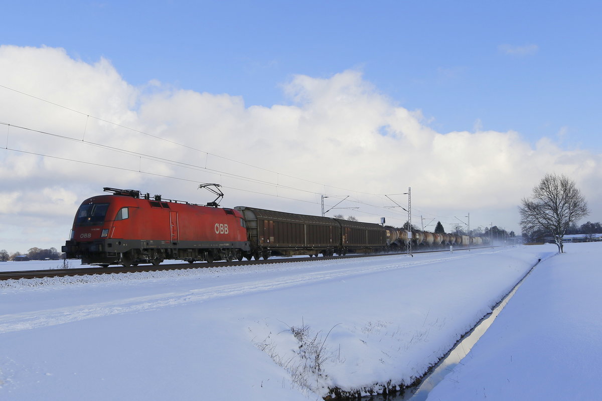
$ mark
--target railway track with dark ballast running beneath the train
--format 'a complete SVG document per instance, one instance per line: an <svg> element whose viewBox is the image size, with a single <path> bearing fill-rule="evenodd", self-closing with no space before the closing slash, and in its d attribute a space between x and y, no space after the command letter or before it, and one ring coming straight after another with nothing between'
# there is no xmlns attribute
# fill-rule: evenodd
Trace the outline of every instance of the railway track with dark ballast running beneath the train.
<svg viewBox="0 0 602 401"><path fill-rule="evenodd" d="M482 246L482 248L495 248L495 246ZM477 248L459 248L453 249L454 251L467 251L470 249ZM418 251L417 253L435 253L435 252L449 252L449 249L437 249L431 251ZM70 269L50 269L50 270L29 270L29 271L12 271L12 272L0 272L0 280L20 280L21 278L46 278L46 277L64 277L64 276L82 276L82 275L95 275L95 274L113 274L113 273L140 273L140 272L157 272L157 271L169 271L169 270L181 270L181 269L201 269L201 268L217 268L226 266L248 266L248 265L270 265L272 263L294 263L294 262L314 262L318 260L334 260L334 259L353 259L358 257L377 257L377 256L394 256L394 255L407 255L403 253L379 253L379 254L357 254L357 255L346 255L346 256L327 256L327 257L291 257L291 258L275 258L268 260L246 260L242 262L199 262L199 263L174 263L172 265L144 265L144 266L130 266L124 268L123 266L114 266L103 268L101 266L93 268L70 268Z"/></svg>

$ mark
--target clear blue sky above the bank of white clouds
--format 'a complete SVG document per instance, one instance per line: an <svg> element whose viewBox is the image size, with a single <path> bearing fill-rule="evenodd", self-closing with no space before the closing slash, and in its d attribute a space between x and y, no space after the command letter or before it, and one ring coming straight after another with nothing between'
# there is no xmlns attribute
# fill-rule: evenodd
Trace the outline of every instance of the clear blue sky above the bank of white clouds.
<svg viewBox="0 0 602 401"><path fill-rule="evenodd" d="M602 151L594 1L7 2L2 44L63 47L151 79L286 103L291 75L359 69L439 132L517 130ZM560 137L557 137L558 134Z"/></svg>

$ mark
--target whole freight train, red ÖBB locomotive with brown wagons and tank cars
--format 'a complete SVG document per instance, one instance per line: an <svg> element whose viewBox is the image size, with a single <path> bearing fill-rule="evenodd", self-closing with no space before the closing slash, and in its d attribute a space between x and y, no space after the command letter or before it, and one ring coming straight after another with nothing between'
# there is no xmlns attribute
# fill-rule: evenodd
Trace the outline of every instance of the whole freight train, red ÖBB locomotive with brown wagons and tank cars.
<svg viewBox="0 0 602 401"><path fill-rule="evenodd" d="M84 265L159 265L163 260L268 259L334 256L412 246L481 245L483 238L403 230L373 223L298 215L255 207L234 209L151 197L134 189L104 188L88 198L62 247Z"/></svg>

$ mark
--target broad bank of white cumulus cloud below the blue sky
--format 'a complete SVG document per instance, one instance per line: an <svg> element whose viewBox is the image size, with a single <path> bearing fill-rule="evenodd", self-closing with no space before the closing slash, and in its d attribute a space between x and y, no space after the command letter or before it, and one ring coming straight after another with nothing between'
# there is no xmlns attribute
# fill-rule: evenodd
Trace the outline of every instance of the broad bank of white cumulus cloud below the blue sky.
<svg viewBox="0 0 602 401"><path fill-rule="evenodd" d="M600 155L548 138L532 147L480 123L436 132L354 70L294 76L283 85L291 104L270 108L157 81L133 87L107 60L50 47L0 46L0 77L13 89L0 87L0 122L11 124L0 125L0 249L9 251L59 247L79 203L104 186L205 203L213 198L197 185L216 182L224 206L311 214L321 194L350 195L340 207L359 209L341 212L393 225L405 212L385 209L394 205L382 195L411 186L414 218L451 224L446 216L471 212L473 227L514 230L517 204L545 173L574 177L592 206L602 197Z"/></svg>

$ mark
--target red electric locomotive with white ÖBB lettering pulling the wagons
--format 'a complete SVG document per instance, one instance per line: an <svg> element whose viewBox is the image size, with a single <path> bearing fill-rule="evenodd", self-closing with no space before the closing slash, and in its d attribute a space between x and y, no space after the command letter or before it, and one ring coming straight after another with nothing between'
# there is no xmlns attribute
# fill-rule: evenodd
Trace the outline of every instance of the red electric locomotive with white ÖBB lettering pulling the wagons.
<svg viewBox="0 0 602 401"><path fill-rule="evenodd" d="M238 210L151 197L132 189L88 198L62 250L82 264L158 265L164 259L242 260L250 251ZM209 204L217 206L216 203Z"/></svg>

